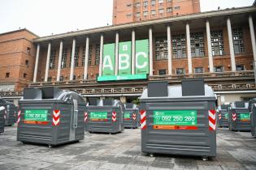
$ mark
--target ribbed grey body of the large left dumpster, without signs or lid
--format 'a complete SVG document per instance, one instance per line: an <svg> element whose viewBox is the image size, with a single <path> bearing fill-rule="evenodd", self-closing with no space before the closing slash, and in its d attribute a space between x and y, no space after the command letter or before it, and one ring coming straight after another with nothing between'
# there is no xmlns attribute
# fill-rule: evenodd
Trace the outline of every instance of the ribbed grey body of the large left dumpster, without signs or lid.
<svg viewBox="0 0 256 170"><path fill-rule="evenodd" d="M84 113L85 104L78 104L78 123L75 138L70 139L72 130L73 104L66 104L56 100L20 100L20 123L18 124L17 140L21 142L35 142L48 145L58 145L65 142L79 141L85 138ZM25 110L47 110L47 124L27 124L24 122ZM53 112L60 111L60 123L53 125Z"/></svg>

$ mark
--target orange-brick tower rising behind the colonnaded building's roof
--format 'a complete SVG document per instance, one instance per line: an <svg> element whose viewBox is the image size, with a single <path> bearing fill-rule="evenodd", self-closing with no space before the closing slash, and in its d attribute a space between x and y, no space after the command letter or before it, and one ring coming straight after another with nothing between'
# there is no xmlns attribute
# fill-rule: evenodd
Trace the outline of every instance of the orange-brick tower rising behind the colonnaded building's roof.
<svg viewBox="0 0 256 170"><path fill-rule="evenodd" d="M200 12L200 0L114 0L113 25Z"/></svg>

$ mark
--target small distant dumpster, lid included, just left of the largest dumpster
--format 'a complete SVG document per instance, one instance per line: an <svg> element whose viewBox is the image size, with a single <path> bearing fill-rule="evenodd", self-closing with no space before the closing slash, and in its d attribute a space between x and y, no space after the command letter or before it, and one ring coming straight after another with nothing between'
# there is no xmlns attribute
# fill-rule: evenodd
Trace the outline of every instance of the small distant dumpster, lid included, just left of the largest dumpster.
<svg viewBox="0 0 256 170"><path fill-rule="evenodd" d="M124 128L137 128L140 125L140 114L137 104L124 104Z"/></svg>

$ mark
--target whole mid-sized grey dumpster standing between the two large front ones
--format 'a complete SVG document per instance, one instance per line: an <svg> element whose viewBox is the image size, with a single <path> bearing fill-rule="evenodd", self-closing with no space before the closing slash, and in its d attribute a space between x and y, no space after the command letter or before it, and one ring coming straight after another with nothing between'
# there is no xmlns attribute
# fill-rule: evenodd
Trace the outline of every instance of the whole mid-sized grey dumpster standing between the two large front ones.
<svg viewBox="0 0 256 170"><path fill-rule="evenodd" d="M115 134L124 130L124 104L119 100L92 100L87 106L85 130Z"/></svg>

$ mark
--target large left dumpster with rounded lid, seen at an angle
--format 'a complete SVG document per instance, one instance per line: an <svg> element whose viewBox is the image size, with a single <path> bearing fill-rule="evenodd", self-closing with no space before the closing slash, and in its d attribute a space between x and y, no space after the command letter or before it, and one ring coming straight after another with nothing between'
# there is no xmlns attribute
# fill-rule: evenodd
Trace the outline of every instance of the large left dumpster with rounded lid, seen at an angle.
<svg viewBox="0 0 256 170"><path fill-rule="evenodd" d="M85 138L86 103L76 91L57 87L24 89L17 140L49 147Z"/></svg>

